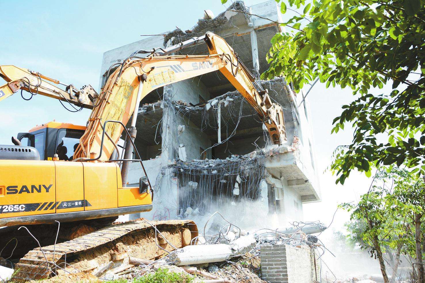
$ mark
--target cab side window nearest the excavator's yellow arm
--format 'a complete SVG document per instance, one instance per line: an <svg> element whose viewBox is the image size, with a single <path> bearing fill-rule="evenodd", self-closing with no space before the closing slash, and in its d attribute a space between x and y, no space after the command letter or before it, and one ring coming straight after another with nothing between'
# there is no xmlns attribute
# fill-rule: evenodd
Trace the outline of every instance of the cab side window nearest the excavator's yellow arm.
<svg viewBox="0 0 425 283"><path fill-rule="evenodd" d="M72 160L74 151L77 149L79 139L84 130L59 129L56 139L56 154L59 160Z"/></svg>

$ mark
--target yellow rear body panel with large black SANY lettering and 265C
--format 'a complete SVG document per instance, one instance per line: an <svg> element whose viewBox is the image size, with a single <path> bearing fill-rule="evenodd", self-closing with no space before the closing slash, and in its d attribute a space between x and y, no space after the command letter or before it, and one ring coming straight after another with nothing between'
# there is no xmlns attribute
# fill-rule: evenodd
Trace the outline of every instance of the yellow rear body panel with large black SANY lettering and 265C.
<svg viewBox="0 0 425 283"><path fill-rule="evenodd" d="M53 161L0 160L0 218L55 213Z"/></svg>

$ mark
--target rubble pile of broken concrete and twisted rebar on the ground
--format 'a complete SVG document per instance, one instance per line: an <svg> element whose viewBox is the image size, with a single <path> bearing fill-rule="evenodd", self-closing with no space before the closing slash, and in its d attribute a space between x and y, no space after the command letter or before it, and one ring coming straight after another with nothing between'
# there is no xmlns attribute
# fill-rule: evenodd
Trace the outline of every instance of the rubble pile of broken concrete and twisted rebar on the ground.
<svg viewBox="0 0 425 283"><path fill-rule="evenodd" d="M213 218L217 215L221 218ZM134 279L153 274L159 269L167 269L167 272L193 276L195 283L262 283L267 281L263 280L261 275L261 246L281 243L314 247L317 245L315 237L303 231L317 232L323 229L326 227L319 223L309 223L286 229L263 228L245 231L227 221L219 212L215 212L198 236L192 239L190 245L166 251L167 255L159 259L134 258L129 252L125 252L125 245L121 245L122 251L109 262L90 267L93 260L86 260L84 272L75 267L60 268L56 272L57 276L46 279L44 282L93 283L117 280L115 282L130 283ZM164 237L162 234L155 236L159 248L161 241L167 242L167 239L162 237ZM10 270L13 271L13 269ZM357 281L353 280L350 282L373 283L363 282L357 278ZM325 279L323 281L326 282ZM30 282L35 283L39 280ZM347 280L341 280L338 283L343 282L348 283Z"/></svg>

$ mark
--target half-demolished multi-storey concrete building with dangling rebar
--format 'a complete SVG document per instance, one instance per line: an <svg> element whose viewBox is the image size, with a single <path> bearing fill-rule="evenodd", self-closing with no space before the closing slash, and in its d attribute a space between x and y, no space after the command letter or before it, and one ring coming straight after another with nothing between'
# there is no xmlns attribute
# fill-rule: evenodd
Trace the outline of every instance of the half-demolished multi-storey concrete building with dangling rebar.
<svg viewBox="0 0 425 283"><path fill-rule="evenodd" d="M272 37L282 31L275 23L282 17L274 0L251 7L235 1L217 17L198 20L191 30L176 29L105 52L99 85L111 64L134 51L174 45L207 31L223 37L259 78L269 67L266 54ZM207 53L199 44L176 54ZM281 146L269 141L255 110L219 72L166 85L142 99L135 144L155 195L153 211L142 217L200 221L221 211L238 223L279 215L276 224L283 224L303 218L302 204L320 201L308 101L284 78L259 83L283 107L287 143ZM129 184L139 184L142 172L140 163L132 163Z"/></svg>

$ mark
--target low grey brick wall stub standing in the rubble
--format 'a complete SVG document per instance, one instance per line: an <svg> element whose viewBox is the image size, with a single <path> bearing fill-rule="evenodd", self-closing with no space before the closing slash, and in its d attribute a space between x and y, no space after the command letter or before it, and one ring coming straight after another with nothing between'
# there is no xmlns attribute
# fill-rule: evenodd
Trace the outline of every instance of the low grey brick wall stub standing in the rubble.
<svg viewBox="0 0 425 283"><path fill-rule="evenodd" d="M270 283L313 283L320 280L320 266L308 246L262 246L261 275Z"/></svg>

